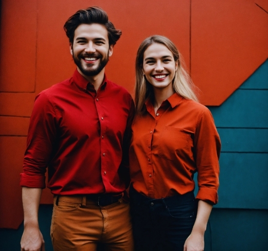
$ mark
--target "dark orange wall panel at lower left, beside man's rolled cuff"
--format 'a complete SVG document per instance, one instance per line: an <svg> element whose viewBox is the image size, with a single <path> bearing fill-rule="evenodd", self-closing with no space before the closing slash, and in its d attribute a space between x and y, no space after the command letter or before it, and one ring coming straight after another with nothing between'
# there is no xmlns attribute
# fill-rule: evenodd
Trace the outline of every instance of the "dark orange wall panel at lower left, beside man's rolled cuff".
<svg viewBox="0 0 268 251"><path fill-rule="evenodd" d="M17 229L23 220L19 173L26 137L0 136L0 228Z"/></svg>

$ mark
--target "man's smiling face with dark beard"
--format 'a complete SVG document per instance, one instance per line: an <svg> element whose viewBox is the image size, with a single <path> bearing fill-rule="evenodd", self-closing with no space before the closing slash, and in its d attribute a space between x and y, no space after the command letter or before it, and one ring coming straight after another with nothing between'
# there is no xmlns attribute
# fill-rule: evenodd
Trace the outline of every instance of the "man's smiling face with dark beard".
<svg viewBox="0 0 268 251"><path fill-rule="evenodd" d="M70 50L80 74L91 77L104 72L104 67L113 54L113 45L109 46L108 32L104 25L83 23L75 30Z"/></svg>

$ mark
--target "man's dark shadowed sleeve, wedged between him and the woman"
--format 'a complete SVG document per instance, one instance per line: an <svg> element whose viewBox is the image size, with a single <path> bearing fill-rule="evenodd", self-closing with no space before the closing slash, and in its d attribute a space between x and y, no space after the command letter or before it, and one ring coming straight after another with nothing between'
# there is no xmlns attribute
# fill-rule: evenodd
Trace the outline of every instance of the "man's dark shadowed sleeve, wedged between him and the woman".
<svg viewBox="0 0 268 251"><path fill-rule="evenodd" d="M124 177L126 188L130 185L130 171L129 171L129 148L131 143L132 131L131 126L134 119L135 106L134 101L131 97L130 99L130 110L127 119L126 130L123 137L123 145L122 145L122 162L119 167L120 177Z"/></svg>

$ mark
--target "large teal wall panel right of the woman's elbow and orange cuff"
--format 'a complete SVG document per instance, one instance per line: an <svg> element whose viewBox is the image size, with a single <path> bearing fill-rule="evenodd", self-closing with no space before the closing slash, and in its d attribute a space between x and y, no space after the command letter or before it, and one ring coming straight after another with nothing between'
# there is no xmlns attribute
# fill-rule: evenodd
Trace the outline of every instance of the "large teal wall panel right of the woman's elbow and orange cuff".
<svg viewBox="0 0 268 251"><path fill-rule="evenodd" d="M268 154L221 153L217 208L268 209Z"/></svg>

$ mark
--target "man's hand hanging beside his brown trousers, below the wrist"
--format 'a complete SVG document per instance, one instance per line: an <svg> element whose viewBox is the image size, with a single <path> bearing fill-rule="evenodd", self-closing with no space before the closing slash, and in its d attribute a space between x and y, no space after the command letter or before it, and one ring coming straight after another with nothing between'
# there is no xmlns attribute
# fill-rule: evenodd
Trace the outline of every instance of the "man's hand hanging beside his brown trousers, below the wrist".
<svg viewBox="0 0 268 251"><path fill-rule="evenodd" d="M38 227L26 227L20 241L20 251L45 251L45 242Z"/></svg>

